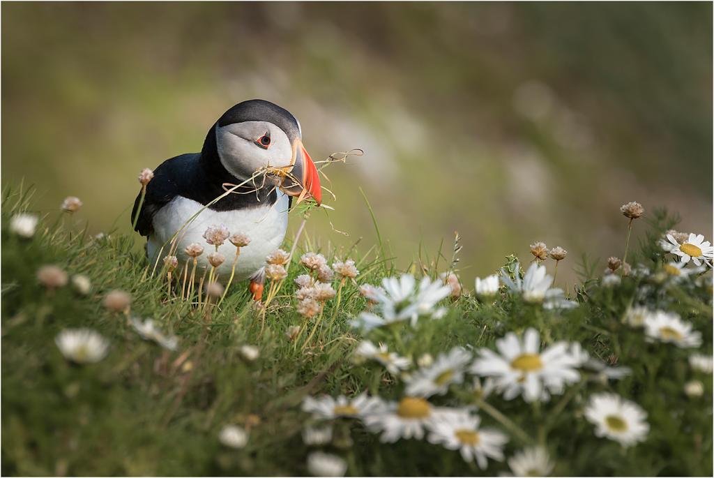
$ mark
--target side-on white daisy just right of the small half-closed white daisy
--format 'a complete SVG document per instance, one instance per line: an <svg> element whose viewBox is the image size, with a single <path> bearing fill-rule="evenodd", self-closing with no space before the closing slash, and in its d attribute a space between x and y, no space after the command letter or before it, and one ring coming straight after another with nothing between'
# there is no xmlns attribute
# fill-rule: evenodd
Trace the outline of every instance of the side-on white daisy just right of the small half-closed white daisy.
<svg viewBox="0 0 714 478"><path fill-rule="evenodd" d="M520 265L516 262L516 271L520 269ZM526 302L543 303L543 307L546 309L570 309L578 305L577 302L565 299L563 289L550 289L553 277L547 274L545 266L540 266L535 262L531 264L531 267L528 267L523 279L517 272L515 281L511 280L506 269L501 269L501 281L511 292L521 294Z"/></svg>

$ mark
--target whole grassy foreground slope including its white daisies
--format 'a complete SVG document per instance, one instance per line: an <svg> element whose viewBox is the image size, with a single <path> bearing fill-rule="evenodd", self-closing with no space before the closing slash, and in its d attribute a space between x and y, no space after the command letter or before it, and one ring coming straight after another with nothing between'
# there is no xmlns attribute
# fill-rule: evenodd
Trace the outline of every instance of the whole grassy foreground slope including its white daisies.
<svg viewBox="0 0 714 478"><path fill-rule="evenodd" d="M4 474L494 475L536 459L553 474L712 472L711 272L665 268L673 254L652 244L672 226L664 217L628 254L629 275L606 285L602 269L583 261L574 292L551 287L548 273L564 259L555 254L555 264L538 259L526 271L508 257L495 288L493 278L478 294L460 284L448 299L444 281L468 238L456 239L444 269L426 264L418 277L388 268L379 246L359 256L289 244L290 254L271 259L284 275L256 308L242 287L211 291L203 307L181 299L184 289L191 297L195 264L167 290L128 231L95 239L41 218L27 237L9 227L16 214L33 214L27 192L4 191L2 206ZM318 254L337 273L300 292L320 282ZM37 279L46 264L70 279L52 294ZM74 277L91 288L79 293ZM106 309L116 290L128 301ZM306 319L298 294L326 299ZM631 325L635 307L643 327ZM73 329L94 332L64 335L58 347ZM538 360L567 359L561 382L541 384L547 397L518 380L508 392L508 377L493 369L526 337L528 350L504 359L523 383ZM596 399L646 416L598 422ZM398 420L437 408L465 415L392 439ZM608 423L647 429L628 442ZM491 451L448 449L478 437Z"/></svg>

